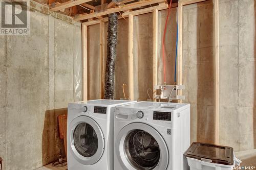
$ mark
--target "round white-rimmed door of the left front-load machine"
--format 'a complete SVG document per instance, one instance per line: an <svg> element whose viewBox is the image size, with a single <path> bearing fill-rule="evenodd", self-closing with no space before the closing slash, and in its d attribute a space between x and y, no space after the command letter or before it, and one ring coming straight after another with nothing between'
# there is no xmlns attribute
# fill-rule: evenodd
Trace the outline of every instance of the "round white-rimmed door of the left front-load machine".
<svg viewBox="0 0 256 170"><path fill-rule="evenodd" d="M71 124L71 148L77 161L91 165L101 158L105 141L99 125L88 116L79 116Z"/></svg>

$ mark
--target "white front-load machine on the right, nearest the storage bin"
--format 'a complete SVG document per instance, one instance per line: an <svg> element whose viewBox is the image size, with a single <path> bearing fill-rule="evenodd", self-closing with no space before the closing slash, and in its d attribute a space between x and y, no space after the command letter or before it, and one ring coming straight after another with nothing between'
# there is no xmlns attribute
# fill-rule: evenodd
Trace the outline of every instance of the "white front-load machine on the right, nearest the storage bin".
<svg viewBox="0 0 256 170"><path fill-rule="evenodd" d="M183 170L190 105L138 102L115 107L114 169Z"/></svg>

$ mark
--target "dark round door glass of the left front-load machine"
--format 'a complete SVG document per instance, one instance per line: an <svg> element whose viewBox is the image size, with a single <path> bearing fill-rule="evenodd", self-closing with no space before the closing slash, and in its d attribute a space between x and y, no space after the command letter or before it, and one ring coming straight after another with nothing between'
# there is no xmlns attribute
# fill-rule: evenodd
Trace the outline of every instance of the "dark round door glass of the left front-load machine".
<svg viewBox="0 0 256 170"><path fill-rule="evenodd" d="M93 127L80 123L74 130L74 145L77 152L84 157L93 156L98 149L98 137Z"/></svg>

